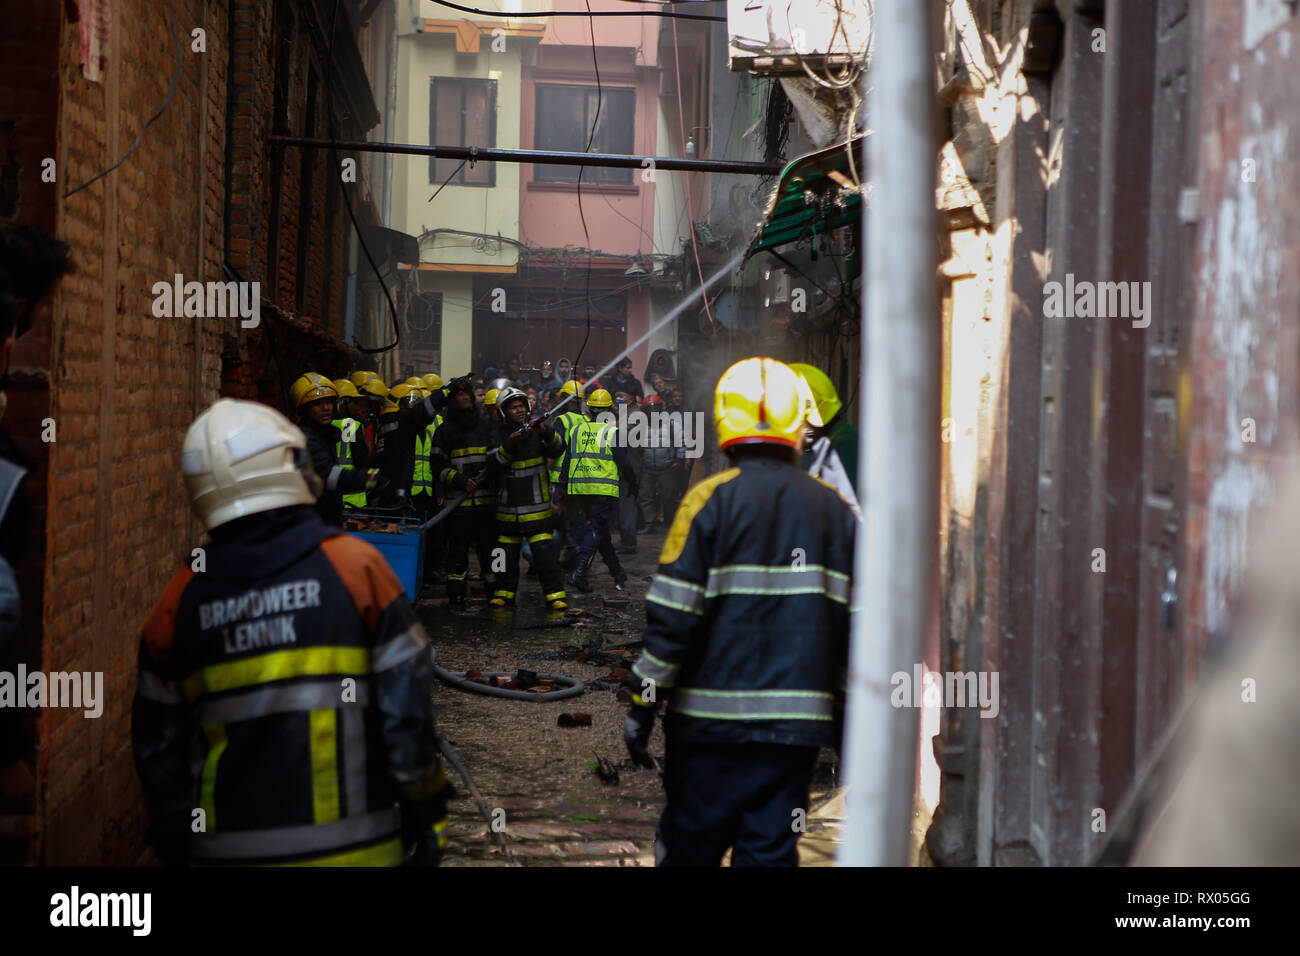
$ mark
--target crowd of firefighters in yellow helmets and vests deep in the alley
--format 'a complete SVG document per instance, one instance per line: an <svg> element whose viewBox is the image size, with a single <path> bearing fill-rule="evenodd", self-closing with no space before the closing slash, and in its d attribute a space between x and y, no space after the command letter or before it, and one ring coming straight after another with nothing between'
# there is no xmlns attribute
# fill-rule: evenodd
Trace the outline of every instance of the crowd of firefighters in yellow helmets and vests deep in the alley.
<svg viewBox="0 0 1300 956"><path fill-rule="evenodd" d="M364 371L334 381L299 377L290 393L324 481L321 518L339 524L355 511L425 522L451 509L429 527L424 580L443 580L454 607L468 600L471 551L494 607L515 605L524 553L554 611L568 606L566 587L592 591L597 553L621 589L627 572L611 527L620 501L634 506L640 489L616 429L594 420L614 397L598 382L580 392L569 378L554 389L554 414L542 419L534 414L541 401L514 381L467 375L443 384L428 373L389 388ZM668 485L662 490L671 515L676 502Z"/></svg>

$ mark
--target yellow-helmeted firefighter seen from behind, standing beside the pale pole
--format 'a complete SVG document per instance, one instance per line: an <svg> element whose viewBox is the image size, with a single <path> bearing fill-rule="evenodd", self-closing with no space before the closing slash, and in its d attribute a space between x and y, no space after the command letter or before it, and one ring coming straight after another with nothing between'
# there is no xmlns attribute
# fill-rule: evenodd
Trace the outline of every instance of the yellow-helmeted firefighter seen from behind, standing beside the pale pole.
<svg viewBox="0 0 1300 956"><path fill-rule="evenodd" d="M667 700L656 862L798 862L819 747L838 747L855 523L797 464L809 395L774 359L736 363L714 416L731 468L686 493L646 594L624 739L651 766Z"/></svg>

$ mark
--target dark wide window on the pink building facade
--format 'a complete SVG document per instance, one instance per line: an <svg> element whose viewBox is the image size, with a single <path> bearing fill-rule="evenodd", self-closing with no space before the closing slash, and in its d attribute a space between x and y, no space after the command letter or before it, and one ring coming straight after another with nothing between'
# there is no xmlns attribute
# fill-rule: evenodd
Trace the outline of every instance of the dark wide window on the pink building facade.
<svg viewBox="0 0 1300 956"><path fill-rule="evenodd" d="M586 140L590 137L592 152L630 153L637 91L628 87L604 87L601 91L599 105L601 112L597 116L597 90L594 86L538 83L534 144L538 150L582 152L586 150ZM593 118L595 120L594 137L592 135ZM630 185L636 172L634 169L546 164L538 164L534 169L538 182L577 182L578 169L582 169L582 182L623 185Z"/></svg>

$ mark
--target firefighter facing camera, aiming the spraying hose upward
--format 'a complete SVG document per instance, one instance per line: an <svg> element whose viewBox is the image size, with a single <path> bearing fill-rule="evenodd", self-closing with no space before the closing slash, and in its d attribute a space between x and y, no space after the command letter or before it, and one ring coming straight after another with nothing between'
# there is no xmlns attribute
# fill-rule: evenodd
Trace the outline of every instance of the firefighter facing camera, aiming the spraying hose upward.
<svg viewBox="0 0 1300 956"><path fill-rule="evenodd" d="M497 576L491 605L514 606L519 555L524 541L528 541L542 594L551 610L562 611L568 605L564 602L564 575L551 535L555 522L546 458L558 455L563 445L554 428L541 421L529 425L528 395L519 389L504 389L497 403L508 434L489 457L488 467L500 489L497 496L497 545L506 553L506 568Z"/></svg>

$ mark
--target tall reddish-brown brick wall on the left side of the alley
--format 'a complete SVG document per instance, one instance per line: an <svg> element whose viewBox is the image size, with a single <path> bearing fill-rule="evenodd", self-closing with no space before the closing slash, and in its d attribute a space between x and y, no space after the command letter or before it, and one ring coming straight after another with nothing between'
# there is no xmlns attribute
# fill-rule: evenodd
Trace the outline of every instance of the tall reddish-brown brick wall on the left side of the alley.
<svg viewBox="0 0 1300 956"><path fill-rule="evenodd" d="M60 207L78 273L56 303L58 440L51 446L43 665L103 671L105 702L99 719L77 710L43 714L38 853L47 864L124 864L144 855L130 749L136 641L198 544L178 450L196 408L220 385L220 325L155 317L151 290L176 273L221 277L224 4L120 0L112 16L99 83L82 75L78 26L65 26L61 189L130 147L168 94L177 39L179 81L130 159ZM196 27L207 31L205 53L191 51Z"/></svg>

